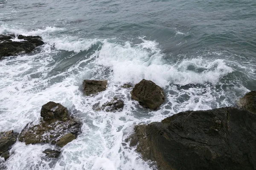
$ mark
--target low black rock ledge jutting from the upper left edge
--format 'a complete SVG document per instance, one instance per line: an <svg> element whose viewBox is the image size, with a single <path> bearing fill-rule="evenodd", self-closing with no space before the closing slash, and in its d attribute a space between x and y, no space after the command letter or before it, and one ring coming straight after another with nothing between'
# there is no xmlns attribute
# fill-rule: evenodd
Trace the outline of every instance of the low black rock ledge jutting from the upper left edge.
<svg viewBox="0 0 256 170"><path fill-rule="evenodd" d="M14 34L0 35L0 58L20 53L29 53L37 46L44 44L39 36L19 35L17 38L23 39L23 41L12 41L14 38Z"/></svg>

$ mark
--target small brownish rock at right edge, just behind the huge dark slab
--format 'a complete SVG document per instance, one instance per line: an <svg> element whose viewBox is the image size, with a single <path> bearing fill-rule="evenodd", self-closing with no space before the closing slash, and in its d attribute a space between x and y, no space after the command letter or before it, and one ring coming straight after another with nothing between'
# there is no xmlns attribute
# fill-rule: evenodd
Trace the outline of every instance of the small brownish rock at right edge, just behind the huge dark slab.
<svg viewBox="0 0 256 170"><path fill-rule="evenodd" d="M256 91L250 91L245 94L245 96L239 100L238 105L247 111L256 113Z"/></svg>

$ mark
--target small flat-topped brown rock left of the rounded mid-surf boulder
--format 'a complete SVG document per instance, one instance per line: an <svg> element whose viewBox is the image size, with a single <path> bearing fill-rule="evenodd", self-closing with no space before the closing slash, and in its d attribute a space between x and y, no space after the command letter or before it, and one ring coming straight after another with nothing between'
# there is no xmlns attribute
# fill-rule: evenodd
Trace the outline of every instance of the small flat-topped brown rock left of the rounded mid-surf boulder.
<svg viewBox="0 0 256 170"><path fill-rule="evenodd" d="M108 80L84 80L83 88L86 95L96 94L105 91Z"/></svg>

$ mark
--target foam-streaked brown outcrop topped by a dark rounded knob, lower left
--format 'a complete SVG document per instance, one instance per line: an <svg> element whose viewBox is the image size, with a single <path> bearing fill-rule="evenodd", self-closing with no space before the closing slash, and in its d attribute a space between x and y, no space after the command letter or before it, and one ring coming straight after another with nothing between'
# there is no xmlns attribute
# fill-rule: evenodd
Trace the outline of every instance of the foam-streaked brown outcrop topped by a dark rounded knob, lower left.
<svg viewBox="0 0 256 170"><path fill-rule="evenodd" d="M63 147L81 133L81 122L71 117L67 108L59 103L48 102L43 105L41 116L44 121L39 125L30 122L24 127L18 137L20 142L51 143Z"/></svg>

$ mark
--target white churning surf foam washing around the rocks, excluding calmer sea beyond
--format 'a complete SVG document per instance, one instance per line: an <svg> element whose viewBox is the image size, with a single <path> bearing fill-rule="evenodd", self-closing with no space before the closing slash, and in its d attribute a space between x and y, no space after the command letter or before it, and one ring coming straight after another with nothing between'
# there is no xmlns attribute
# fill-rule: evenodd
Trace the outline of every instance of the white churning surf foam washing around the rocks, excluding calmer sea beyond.
<svg viewBox="0 0 256 170"><path fill-rule="evenodd" d="M58 159L46 159L42 153L54 148L52 145L16 142L12 156L3 163L7 170L154 169L154 163L142 160L135 148L124 142L134 125L160 121L180 111L233 106L248 90L238 79L228 80L230 74L243 68L255 75L255 65L245 67L221 57L198 55L168 62L159 43L146 37L137 37L140 43L133 44L117 38L57 37L62 31L64 28L27 31L0 26L0 34L39 35L46 42L32 54L0 61L0 131L20 132L28 122L38 124L41 106L49 101L61 103L83 122L82 133L61 148ZM69 55L64 55L67 51ZM84 96L84 79L107 79L107 90ZM166 101L158 111L142 108L131 100L131 89L120 87L141 79L152 80L164 89ZM123 111L93 111L94 104L103 104L113 96L125 101Z"/></svg>

